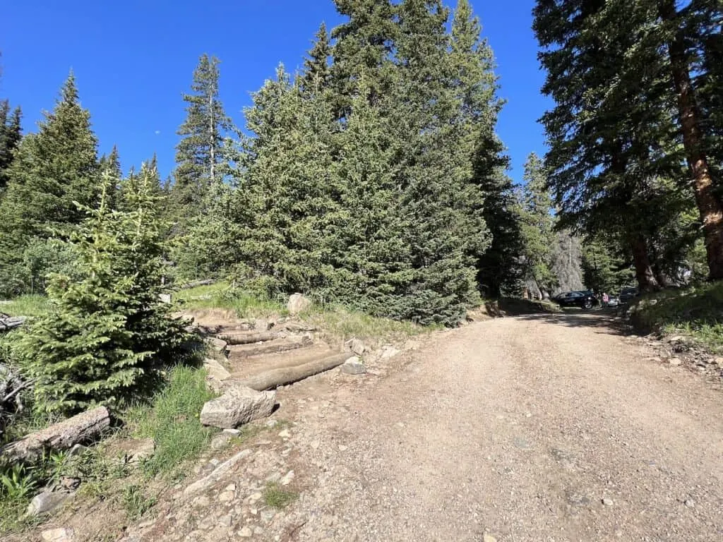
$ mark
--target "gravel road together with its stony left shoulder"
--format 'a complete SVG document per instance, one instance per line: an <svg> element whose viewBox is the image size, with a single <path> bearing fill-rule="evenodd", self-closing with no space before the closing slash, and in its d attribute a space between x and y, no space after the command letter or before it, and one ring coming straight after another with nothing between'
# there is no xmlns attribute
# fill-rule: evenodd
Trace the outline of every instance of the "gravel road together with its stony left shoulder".
<svg viewBox="0 0 723 542"><path fill-rule="evenodd" d="M254 438L217 437L121 538L723 540L722 368L697 369L677 344L591 313L495 319L367 353L367 374L279 390ZM83 521L44 529L109 539Z"/></svg>

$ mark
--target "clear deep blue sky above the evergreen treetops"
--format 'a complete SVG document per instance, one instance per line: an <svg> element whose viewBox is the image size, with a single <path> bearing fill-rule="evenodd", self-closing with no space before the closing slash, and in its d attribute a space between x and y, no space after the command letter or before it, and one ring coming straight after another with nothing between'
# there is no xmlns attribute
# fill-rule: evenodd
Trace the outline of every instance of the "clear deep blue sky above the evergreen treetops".
<svg viewBox="0 0 723 542"><path fill-rule="evenodd" d="M508 100L498 133L519 181L526 155L544 152L536 119L548 106L530 28L534 0L472 4L497 57L500 95ZM249 93L278 63L301 66L320 22L341 22L331 0L14 1L3 19L0 98L22 106L26 131L53 107L73 69L100 151L117 144L126 171L157 152L163 176L174 167L181 93L201 53L221 59L221 99L242 124Z"/></svg>

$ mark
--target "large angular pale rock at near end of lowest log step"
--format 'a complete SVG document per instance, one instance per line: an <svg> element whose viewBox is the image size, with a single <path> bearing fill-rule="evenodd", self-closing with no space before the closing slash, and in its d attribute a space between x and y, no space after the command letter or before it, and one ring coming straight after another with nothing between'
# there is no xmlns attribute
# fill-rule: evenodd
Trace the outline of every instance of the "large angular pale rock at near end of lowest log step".
<svg viewBox="0 0 723 542"><path fill-rule="evenodd" d="M276 392L257 392L234 386L203 405L201 423L231 429L252 420L269 416L276 403Z"/></svg>

